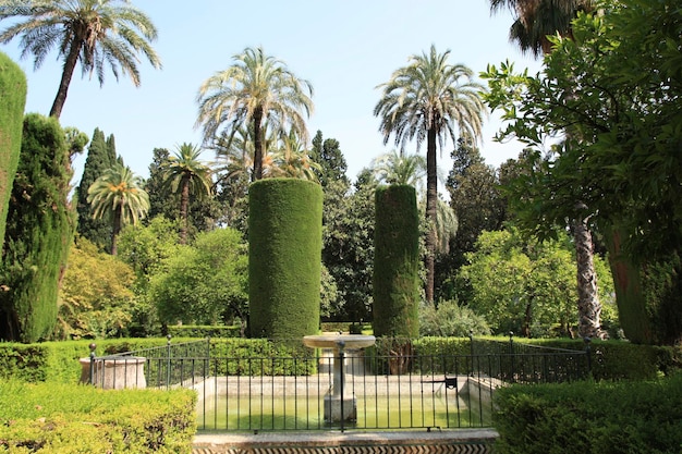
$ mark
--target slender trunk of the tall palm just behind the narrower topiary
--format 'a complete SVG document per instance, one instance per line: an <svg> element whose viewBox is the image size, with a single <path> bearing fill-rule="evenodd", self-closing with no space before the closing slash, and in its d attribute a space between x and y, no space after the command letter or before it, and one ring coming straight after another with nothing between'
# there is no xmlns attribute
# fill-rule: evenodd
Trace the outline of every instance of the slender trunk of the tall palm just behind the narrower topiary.
<svg viewBox="0 0 682 454"><path fill-rule="evenodd" d="M438 214L438 173L436 163L436 130L426 136L426 302L434 302L436 275L436 216Z"/></svg>

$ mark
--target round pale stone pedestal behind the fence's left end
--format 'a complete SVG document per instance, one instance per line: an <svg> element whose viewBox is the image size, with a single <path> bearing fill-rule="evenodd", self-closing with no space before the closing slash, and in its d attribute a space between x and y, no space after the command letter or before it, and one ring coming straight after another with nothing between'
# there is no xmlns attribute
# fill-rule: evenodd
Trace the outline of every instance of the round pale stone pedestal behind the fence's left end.
<svg viewBox="0 0 682 454"><path fill-rule="evenodd" d="M95 359L93 364L93 384L105 390L147 388L145 363L145 358L137 356ZM81 383L89 383L90 358L81 358Z"/></svg>

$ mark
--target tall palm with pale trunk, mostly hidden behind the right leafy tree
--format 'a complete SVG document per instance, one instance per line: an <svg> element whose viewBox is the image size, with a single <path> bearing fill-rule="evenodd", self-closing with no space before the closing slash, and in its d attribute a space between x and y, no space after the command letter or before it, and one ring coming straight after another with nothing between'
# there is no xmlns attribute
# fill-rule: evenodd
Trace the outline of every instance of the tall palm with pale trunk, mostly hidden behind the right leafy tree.
<svg viewBox="0 0 682 454"><path fill-rule="evenodd" d="M571 38L571 21L579 11L590 11L592 0L490 0L490 9L497 12L509 8L516 16L509 33L510 40L522 51L531 51L535 57L551 52L547 38L561 35ZM567 131L567 134L571 134ZM579 201L576 207L587 210ZM600 328L601 304L597 289L597 273L594 266L594 241L589 230L589 214L572 221L573 241L577 265L577 311L579 331L584 338L602 338Z"/></svg>

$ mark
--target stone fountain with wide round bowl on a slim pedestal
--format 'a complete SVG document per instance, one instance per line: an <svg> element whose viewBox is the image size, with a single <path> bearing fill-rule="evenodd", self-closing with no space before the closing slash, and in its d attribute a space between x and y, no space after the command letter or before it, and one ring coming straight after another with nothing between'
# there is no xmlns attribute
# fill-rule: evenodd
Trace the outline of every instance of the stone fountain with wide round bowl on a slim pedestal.
<svg viewBox="0 0 682 454"><path fill-rule="evenodd" d="M357 403L354 395L344 393L345 370L344 351L361 349L374 345L374 335L362 334L318 334L306 335L303 344L312 348L331 348L333 351L333 383L325 395L325 420L328 422L354 421Z"/></svg>

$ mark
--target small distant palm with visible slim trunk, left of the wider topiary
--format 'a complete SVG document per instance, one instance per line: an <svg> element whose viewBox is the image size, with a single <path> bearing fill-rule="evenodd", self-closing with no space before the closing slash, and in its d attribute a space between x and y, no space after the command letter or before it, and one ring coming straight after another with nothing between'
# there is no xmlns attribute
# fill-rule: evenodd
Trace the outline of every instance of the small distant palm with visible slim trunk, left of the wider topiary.
<svg viewBox="0 0 682 454"><path fill-rule="evenodd" d="M190 212L190 195L195 197L208 196L211 193L210 167L199 161L202 150L192 144L182 144L173 156L162 164L165 183L171 192L180 193L180 243L187 242L187 225Z"/></svg>

